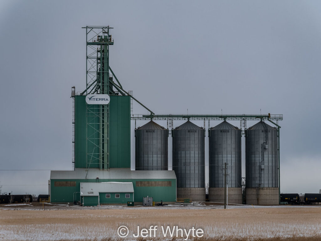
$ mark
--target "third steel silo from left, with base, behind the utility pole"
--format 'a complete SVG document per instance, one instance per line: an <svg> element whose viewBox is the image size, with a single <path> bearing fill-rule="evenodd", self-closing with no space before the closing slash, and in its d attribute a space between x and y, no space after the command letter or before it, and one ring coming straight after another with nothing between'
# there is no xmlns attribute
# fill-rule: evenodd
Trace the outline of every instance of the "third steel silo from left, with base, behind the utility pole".
<svg viewBox="0 0 321 241"><path fill-rule="evenodd" d="M209 129L209 200L224 202L227 163L228 202L242 204L241 130L223 121Z"/></svg>

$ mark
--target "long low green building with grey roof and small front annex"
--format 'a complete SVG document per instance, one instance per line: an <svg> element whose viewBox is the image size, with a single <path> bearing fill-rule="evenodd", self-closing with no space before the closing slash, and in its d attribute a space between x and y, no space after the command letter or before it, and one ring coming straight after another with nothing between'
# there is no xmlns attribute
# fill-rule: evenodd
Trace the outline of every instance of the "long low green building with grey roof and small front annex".
<svg viewBox="0 0 321 241"><path fill-rule="evenodd" d="M51 202L98 204L127 204L134 201L142 205L143 197L153 201L176 201L174 171L131 171L130 168L111 168L109 171L76 168L75 171L51 171ZM110 194L110 198L102 198ZM119 197L115 196L119 194ZM129 197L122 198L125 194ZM98 198L99 197L99 198Z"/></svg>

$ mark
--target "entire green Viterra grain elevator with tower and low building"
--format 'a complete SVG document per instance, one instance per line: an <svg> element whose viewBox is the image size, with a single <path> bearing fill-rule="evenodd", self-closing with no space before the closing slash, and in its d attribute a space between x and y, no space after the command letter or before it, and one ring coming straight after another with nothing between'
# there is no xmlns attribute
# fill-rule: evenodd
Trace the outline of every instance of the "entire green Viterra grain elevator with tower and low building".
<svg viewBox="0 0 321 241"><path fill-rule="evenodd" d="M176 201L174 171L131 170L131 98L109 66L110 27L86 26L87 78L81 93L72 88L73 166L51 171L50 201L102 204L142 204ZM96 34L98 33L98 34ZM114 82L114 79L116 82ZM136 99L134 99L136 100ZM134 169L134 167L133 167Z"/></svg>

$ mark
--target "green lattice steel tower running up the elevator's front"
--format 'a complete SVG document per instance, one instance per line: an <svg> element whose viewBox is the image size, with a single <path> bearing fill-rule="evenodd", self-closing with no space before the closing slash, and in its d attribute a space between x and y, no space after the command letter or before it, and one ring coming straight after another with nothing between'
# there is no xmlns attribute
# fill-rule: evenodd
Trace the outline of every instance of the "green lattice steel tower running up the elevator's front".
<svg viewBox="0 0 321 241"><path fill-rule="evenodd" d="M114 94L109 81L109 45L114 40L109 26L86 26L86 90L87 94ZM83 94L84 94L83 93ZM109 104L87 104L87 150L89 164L109 169Z"/></svg>

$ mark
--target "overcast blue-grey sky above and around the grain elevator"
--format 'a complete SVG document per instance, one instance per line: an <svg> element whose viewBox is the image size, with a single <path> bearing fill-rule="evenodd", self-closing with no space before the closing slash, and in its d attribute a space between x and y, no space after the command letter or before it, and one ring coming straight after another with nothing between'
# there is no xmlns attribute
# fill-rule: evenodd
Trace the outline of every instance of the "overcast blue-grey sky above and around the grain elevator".
<svg viewBox="0 0 321 241"><path fill-rule="evenodd" d="M72 169L86 25L114 27L110 66L155 113L283 114L281 192L321 189L319 1L2 0L2 192L47 193L48 170Z"/></svg>

